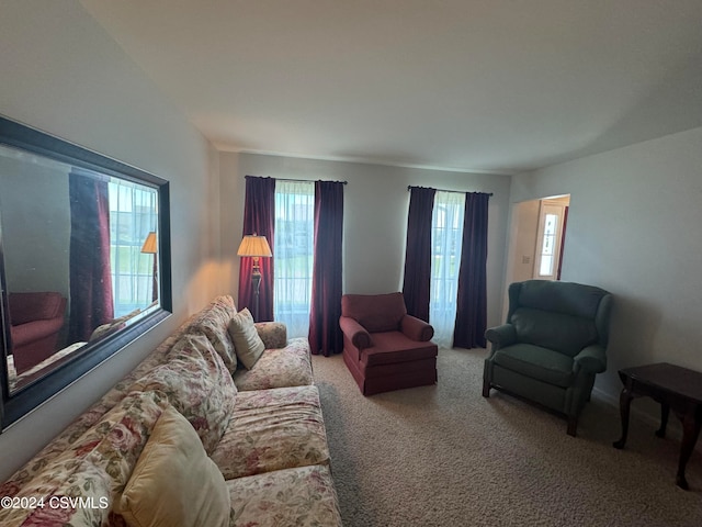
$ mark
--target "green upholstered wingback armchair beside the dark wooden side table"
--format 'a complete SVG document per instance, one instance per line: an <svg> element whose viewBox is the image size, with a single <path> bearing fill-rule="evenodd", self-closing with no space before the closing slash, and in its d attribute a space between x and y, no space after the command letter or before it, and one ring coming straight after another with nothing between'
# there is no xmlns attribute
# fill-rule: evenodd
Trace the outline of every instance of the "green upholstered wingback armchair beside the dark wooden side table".
<svg viewBox="0 0 702 527"><path fill-rule="evenodd" d="M607 369L612 295L591 285L528 280L509 287L507 323L485 333L483 396L490 388L545 406L568 419L590 399L595 375Z"/></svg>

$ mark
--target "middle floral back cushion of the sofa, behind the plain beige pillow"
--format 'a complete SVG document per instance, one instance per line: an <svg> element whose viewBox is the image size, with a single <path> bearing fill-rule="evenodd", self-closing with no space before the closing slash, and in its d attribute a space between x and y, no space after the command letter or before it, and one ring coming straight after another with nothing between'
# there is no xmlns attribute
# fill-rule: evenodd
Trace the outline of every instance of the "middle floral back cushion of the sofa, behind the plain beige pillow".
<svg viewBox="0 0 702 527"><path fill-rule="evenodd" d="M160 391L195 428L210 455L231 418L237 389L203 335L183 335L168 362L137 380L132 390Z"/></svg>

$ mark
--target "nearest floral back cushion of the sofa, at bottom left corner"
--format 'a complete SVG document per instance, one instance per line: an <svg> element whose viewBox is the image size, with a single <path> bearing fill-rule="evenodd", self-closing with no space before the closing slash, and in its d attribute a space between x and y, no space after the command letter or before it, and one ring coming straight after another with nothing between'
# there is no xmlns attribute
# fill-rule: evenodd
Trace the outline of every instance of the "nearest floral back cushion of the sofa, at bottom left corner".
<svg viewBox="0 0 702 527"><path fill-rule="evenodd" d="M35 500L35 506L0 509L0 525L107 524L115 497L128 481L150 430L167 406L162 394L132 393L60 456L48 462L34 458L33 463L41 470L8 495L29 498L30 505Z"/></svg>

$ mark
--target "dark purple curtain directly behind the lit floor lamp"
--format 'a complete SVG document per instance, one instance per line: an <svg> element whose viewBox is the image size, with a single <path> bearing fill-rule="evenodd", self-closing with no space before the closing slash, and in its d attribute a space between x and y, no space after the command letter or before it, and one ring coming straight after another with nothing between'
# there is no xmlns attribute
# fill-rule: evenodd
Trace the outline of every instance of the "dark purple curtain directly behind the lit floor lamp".
<svg viewBox="0 0 702 527"><path fill-rule="evenodd" d="M258 234L265 236L271 251L275 246L273 226L275 221L275 180L273 178L246 177L246 198L244 202L244 232L241 236ZM259 288L259 316L256 322L273 319L273 258L259 258L261 285ZM251 272L253 258L241 257L239 266L238 309L253 309L253 289Z"/></svg>

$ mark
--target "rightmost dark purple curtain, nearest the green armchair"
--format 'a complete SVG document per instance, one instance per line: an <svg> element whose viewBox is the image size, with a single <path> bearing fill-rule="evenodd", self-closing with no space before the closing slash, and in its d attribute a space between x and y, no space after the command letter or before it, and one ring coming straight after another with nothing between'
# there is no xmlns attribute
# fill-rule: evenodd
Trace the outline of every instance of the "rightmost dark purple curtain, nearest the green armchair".
<svg viewBox="0 0 702 527"><path fill-rule="evenodd" d="M490 194L466 192L458 270L455 348L484 348L487 325L487 208Z"/></svg>

